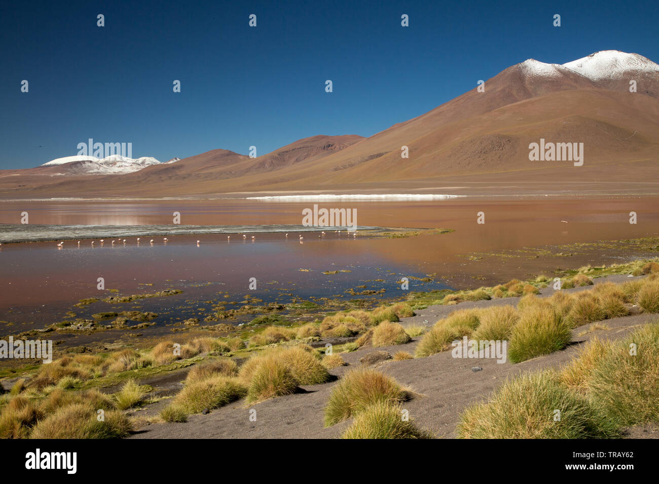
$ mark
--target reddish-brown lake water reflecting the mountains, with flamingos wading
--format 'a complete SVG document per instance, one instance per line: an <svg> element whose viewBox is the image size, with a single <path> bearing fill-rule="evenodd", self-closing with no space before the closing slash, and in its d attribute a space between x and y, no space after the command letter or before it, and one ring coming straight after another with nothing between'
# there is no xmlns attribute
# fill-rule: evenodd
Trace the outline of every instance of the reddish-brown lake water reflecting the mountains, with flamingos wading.
<svg viewBox="0 0 659 484"><path fill-rule="evenodd" d="M183 289L184 294L179 296L140 301L142 310L154 311L188 301L190 310L172 314L175 319L194 315L194 304L204 298L223 297L218 292L229 292L229 300L233 301L244 300L250 294L266 301L286 302L290 296L285 294L291 293L304 299L335 295L350 299L362 296L351 296L345 290L365 284L368 289L386 288L384 297L393 298L403 292L395 284L403 275L436 274L434 282L412 280L411 290L464 288L512 277L525 278L557 267L652 256L656 254L608 246L562 245L657 236L658 202L656 196L455 198L433 202L341 200L316 203L326 208L357 209L360 226L442 227L455 232L356 239L345 232L318 238L316 232L305 234L304 244L299 243L297 233L288 240L282 233L258 233L254 242L232 236L230 243L223 234L169 236L167 244L163 244L162 237L154 237L153 246L148 238L146 243L142 238L138 246L134 237L125 245L114 247L108 242L101 247L97 242L92 248L85 240L78 248L69 241L62 250L55 242L3 244L0 320L16 325L0 331L42 327L61 320L63 312L82 298L110 296L111 293L96 289L98 277L105 279L106 289L117 289L120 294L155 292L167 287ZM20 223L20 213L27 211L30 224L167 225L173 222L172 213L178 211L185 225L300 225L302 209L313 203L1 202L0 223ZM476 223L480 211L485 214L484 225ZM638 214L636 225L629 223L630 211ZM196 246L198 239L200 246ZM545 248L548 252L520 252L525 248ZM568 252L572 255L556 255ZM341 269L351 272L322 274ZM257 290L248 290L250 277L257 279ZM369 281L372 279L384 282Z"/></svg>

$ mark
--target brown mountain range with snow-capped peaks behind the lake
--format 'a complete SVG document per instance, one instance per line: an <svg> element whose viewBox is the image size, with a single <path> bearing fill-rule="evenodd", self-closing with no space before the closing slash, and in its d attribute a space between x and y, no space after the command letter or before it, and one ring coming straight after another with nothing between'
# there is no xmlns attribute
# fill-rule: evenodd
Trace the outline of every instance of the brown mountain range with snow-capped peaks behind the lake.
<svg viewBox="0 0 659 484"><path fill-rule="evenodd" d="M541 138L583 143L585 163L529 161ZM529 59L487 80L484 92L369 138L312 136L257 158L215 149L167 163L68 159L0 171L0 196L659 193L659 66L620 51L563 65Z"/></svg>

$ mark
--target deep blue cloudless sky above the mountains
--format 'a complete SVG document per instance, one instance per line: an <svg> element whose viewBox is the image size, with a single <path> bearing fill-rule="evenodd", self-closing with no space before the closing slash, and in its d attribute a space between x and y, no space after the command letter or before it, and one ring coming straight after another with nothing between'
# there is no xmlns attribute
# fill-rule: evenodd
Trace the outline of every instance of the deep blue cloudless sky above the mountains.
<svg viewBox="0 0 659 484"><path fill-rule="evenodd" d="M262 155L315 134L371 136L530 57L565 63L619 49L659 61L656 0L68 0L0 9L1 169L75 155L88 138L132 142L134 157L160 161L215 148L246 154L250 145Z"/></svg>

